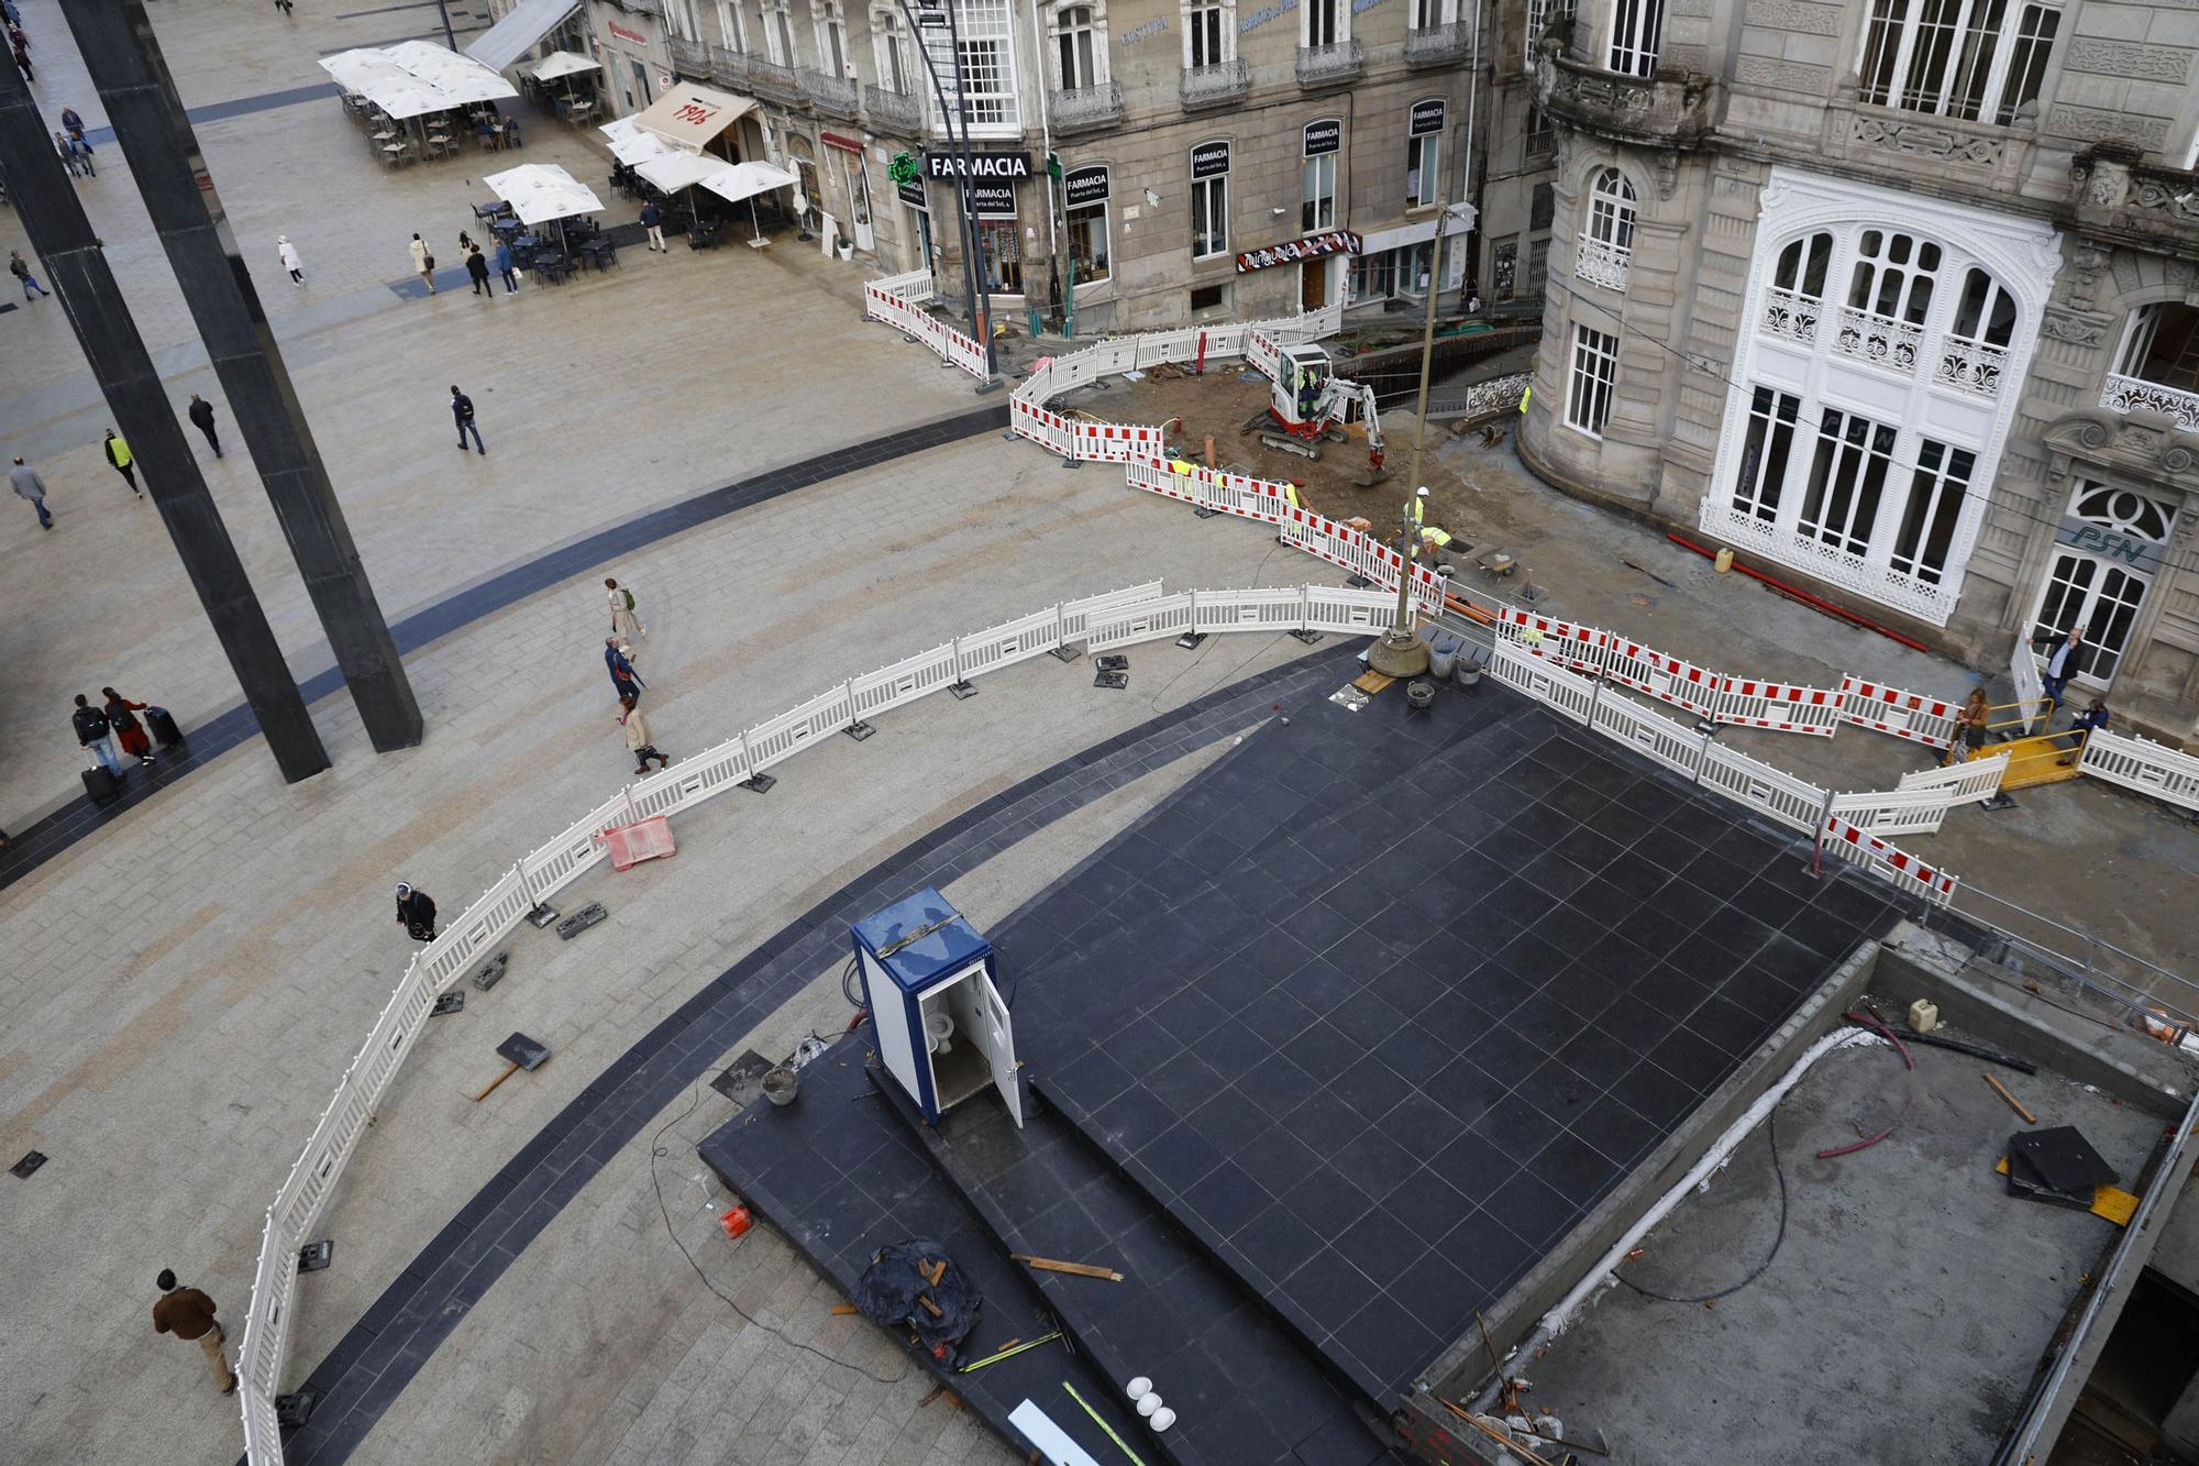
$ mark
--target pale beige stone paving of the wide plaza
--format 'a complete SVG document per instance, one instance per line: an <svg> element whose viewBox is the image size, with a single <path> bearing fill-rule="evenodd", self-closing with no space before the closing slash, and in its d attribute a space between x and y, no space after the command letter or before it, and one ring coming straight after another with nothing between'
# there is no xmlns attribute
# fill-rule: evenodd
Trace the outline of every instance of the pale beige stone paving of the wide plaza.
<svg viewBox="0 0 2199 1466"><path fill-rule="evenodd" d="M317 55L433 18L301 7L284 20L216 0L154 11L191 106L317 86ZM99 128L55 0L22 0L22 13L42 106L57 114L73 101ZM792 236L767 251L627 249L607 275L493 302L446 271L429 299L407 277L405 242L418 229L455 260L468 205L486 200L479 158L385 174L330 97L237 110L198 136L391 621L607 526L1001 401L860 324L862 266ZM592 139L539 117L519 158L598 185L607 169ZM169 392L220 405L119 150L103 145L99 161L81 198ZM607 218L631 220L631 205ZM306 288L277 269L277 233L299 244ZM13 214L0 236L26 247ZM59 306L0 313L0 339L7 451L42 469L57 517L42 535L26 506L0 506L0 823L20 830L81 799L70 693L112 682L185 726L240 693L152 506L101 460L106 409ZM451 383L479 405L486 458L451 449ZM319 671L328 649L226 409L222 429L233 451L202 453L200 467L292 669ZM1528 495L1517 473L1515 460L1491 464L1489 482ZM1605 623L1649 616L1632 583L1614 590L1601 570L1621 553L1658 553L1654 537L1570 502L1535 513L1577 566L1561 605ZM1676 652L1720 647L1792 680L1843 667L1915 687L1964 678L1792 608L1717 601L1724 586L1706 572L1656 564L1678 586L1649 625ZM314 707L328 773L284 786L246 742L7 885L0 1162L31 1149L48 1160L31 1180L0 1180L13 1325L0 1345L0 1455L237 1457L233 1402L194 1349L147 1325L152 1279L172 1266L242 1321L266 1204L411 958L391 883L411 880L457 916L627 779L603 685L605 575L642 599L647 707L675 759L847 676L1062 599L1148 579L1341 579L1258 526L1192 519L1106 469L1064 471L972 431L658 537L455 625L407 658L427 718L413 751L376 757L336 693ZM805 753L765 799L728 792L684 814L668 863L589 876L563 905L603 900L609 922L570 944L521 929L510 977L468 993L407 1061L323 1228L334 1266L303 1281L286 1387L358 1325L484 1175L759 942L992 795L1302 656L1282 634L1216 636L1196 652L1154 643L1135 649L1128 691L1038 658L987 678L976 700L930 698L882 718L869 742ZM1005 918L1229 735L1214 726L1196 748L1146 755L1119 788L1027 821L950 883L950 898L981 927ZM1880 788L1922 764L1863 733L1803 748L1735 742L1841 788ZM2188 898L2199 872L2188 823L2155 806L2041 790L2001 823L1951 821L1918 847L2038 911L2199 966L2190 925L2148 916ZM844 1021L838 971L818 971L741 1043L697 1054L695 1072L743 1048L783 1057ZM499 1068L493 1046L515 1028L554 1059L475 1103ZM930 1378L891 1341L831 1316L836 1290L783 1237L759 1228L730 1244L717 1230L726 1193L693 1147L728 1114L693 1085L647 1118L433 1358L413 1360L409 1385L374 1402L352 1459L1020 1459L968 1411L926 1402ZM767 1327L706 1290L675 1237Z"/></svg>

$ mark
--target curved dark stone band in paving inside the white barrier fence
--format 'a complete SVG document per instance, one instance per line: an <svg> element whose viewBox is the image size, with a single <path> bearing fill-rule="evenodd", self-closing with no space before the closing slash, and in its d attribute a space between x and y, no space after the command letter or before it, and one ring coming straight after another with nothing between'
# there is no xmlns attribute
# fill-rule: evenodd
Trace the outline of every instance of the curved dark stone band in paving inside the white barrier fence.
<svg viewBox="0 0 2199 1466"><path fill-rule="evenodd" d="M1355 658L1357 641L1346 641L1093 744L904 845L787 922L611 1061L420 1248L297 1387L317 1402L312 1418L284 1435L284 1457L292 1466L350 1459L565 1202L763 1017L847 955L851 922L915 887L948 885L1062 814L1339 676ZM1082 676L1082 665L1060 676Z"/></svg>

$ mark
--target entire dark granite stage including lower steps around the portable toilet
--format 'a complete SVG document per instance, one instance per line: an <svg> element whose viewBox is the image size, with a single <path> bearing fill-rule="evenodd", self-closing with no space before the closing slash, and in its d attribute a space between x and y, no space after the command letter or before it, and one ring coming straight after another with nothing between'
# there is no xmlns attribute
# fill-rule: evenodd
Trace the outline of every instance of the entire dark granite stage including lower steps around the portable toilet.
<svg viewBox="0 0 2199 1466"><path fill-rule="evenodd" d="M987 933L1025 1129L992 1094L921 1127L864 1028L701 1147L842 1286L946 1237L974 1354L1058 1316L1080 1358L954 1387L1102 1462L1062 1380L1124 1422L1150 1376L1146 1459L1394 1459L1381 1415L1473 1312L1902 905L1500 687L1282 713Z"/></svg>

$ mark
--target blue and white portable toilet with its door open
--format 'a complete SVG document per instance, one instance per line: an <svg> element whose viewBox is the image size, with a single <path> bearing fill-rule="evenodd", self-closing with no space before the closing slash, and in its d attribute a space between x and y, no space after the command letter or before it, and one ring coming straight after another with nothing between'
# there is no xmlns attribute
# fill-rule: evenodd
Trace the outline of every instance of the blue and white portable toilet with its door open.
<svg viewBox="0 0 2199 1466"><path fill-rule="evenodd" d="M937 889L866 916L851 929L877 1057L926 1120L1001 1092L1023 1127L1016 1030L994 984L992 942Z"/></svg>

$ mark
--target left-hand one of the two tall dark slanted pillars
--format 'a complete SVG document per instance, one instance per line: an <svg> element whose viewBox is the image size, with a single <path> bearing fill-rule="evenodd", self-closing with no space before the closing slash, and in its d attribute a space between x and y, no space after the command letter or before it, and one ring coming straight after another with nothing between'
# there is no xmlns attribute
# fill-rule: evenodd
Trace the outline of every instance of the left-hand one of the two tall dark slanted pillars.
<svg viewBox="0 0 2199 1466"><path fill-rule="evenodd" d="M198 460L183 436L183 423L167 401L161 372L152 365L145 339L114 286L92 222L77 200L77 185L62 172L53 152L53 134L31 101L22 75L0 66L0 172L7 172L9 198L22 220L31 249L46 266L46 280L59 308L68 315L77 343L84 346L92 376L99 381L114 427L130 442L145 471L145 493L152 495L161 522L167 524L176 555L183 559L191 588L207 621L229 656L244 700L259 720L259 731L275 753L281 777L290 784L328 768L328 751L306 713L306 700L284 665L281 647L268 627L259 597L244 575L229 526L207 493ZM66 530L64 530L66 539ZM46 546L48 550L55 546ZM59 715L59 713L55 713Z"/></svg>

